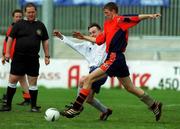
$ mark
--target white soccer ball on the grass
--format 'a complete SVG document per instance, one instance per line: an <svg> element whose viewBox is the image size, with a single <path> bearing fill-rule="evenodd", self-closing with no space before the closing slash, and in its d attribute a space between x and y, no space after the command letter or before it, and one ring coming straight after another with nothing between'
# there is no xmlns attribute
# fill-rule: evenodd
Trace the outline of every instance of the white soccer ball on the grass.
<svg viewBox="0 0 180 129"><path fill-rule="evenodd" d="M59 119L59 117L60 117L60 113L59 113L59 111L56 108L48 108L45 111L44 118L47 121L56 121L56 120Z"/></svg>

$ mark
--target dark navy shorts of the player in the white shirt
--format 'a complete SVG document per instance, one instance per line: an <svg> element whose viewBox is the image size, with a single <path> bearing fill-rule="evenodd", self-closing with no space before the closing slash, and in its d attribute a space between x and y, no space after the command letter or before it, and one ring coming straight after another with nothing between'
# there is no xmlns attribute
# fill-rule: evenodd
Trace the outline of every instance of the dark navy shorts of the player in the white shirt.
<svg viewBox="0 0 180 129"><path fill-rule="evenodd" d="M89 73L91 73L92 71L94 71L97 68L98 67L95 67L95 66L90 67ZM100 80L98 80L98 81L95 81L92 84L91 89L98 94L100 92L101 86L106 82L106 80L107 80L107 76L102 78L102 79L100 79Z"/></svg>

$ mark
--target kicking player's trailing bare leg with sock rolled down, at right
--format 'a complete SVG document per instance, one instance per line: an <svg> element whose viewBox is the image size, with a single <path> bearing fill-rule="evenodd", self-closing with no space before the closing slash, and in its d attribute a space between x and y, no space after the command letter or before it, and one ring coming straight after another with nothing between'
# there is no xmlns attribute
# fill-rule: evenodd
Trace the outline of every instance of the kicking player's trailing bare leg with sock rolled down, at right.
<svg viewBox="0 0 180 129"><path fill-rule="evenodd" d="M140 100L143 101L149 107L150 110L152 110L152 112L155 115L156 121L160 120L161 112L162 112L162 103L161 102L155 101L147 93L145 93L142 89L136 88L133 85L129 76L123 77L123 78L118 77L118 80L121 81L122 85L128 92L139 97Z"/></svg>

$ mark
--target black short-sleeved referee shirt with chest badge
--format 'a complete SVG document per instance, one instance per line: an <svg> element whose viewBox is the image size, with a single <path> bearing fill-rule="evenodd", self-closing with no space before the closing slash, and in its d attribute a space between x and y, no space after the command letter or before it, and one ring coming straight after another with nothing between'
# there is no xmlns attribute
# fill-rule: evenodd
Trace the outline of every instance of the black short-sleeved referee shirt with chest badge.
<svg viewBox="0 0 180 129"><path fill-rule="evenodd" d="M20 20L14 24L10 37L16 38L15 53L37 56L41 41L47 40L48 33L41 21Z"/></svg>

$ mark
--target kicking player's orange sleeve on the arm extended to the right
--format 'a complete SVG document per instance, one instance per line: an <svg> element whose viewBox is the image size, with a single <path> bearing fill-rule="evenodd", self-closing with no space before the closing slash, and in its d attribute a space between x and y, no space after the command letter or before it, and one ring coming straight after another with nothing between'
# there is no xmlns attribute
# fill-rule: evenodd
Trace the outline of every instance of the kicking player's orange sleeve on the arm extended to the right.
<svg viewBox="0 0 180 129"><path fill-rule="evenodd" d="M140 19L138 15L137 16L126 15L126 16L119 16L117 18L117 22L121 29L127 30L137 25L140 22Z"/></svg>

